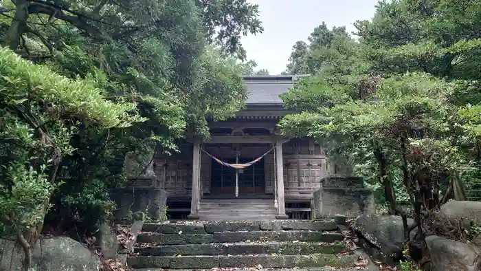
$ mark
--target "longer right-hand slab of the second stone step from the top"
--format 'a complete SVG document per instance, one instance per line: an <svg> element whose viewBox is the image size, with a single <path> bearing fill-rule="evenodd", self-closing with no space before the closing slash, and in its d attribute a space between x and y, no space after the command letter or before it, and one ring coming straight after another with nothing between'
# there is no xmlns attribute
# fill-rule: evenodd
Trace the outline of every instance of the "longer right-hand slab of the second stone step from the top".
<svg viewBox="0 0 481 271"><path fill-rule="evenodd" d="M339 233L313 231L260 231L260 232L214 232L214 243L238 243L245 241L311 241L333 242L342 241L344 236Z"/></svg>

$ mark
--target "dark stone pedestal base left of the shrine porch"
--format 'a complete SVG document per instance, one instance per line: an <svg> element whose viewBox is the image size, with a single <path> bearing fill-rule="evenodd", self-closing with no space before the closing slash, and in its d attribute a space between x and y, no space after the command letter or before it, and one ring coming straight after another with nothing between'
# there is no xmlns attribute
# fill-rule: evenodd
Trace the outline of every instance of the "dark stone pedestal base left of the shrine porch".
<svg viewBox="0 0 481 271"><path fill-rule="evenodd" d="M111 191L111 199L117 204L113 215L126 219L130 213L147 212L152 219L164 220L168 193L160 188L117 188Z"/></svg>

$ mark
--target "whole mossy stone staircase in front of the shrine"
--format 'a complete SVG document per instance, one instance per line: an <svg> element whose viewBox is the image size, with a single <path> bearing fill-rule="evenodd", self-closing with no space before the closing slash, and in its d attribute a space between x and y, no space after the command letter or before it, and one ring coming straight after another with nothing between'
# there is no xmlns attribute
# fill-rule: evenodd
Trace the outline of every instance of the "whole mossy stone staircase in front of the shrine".
<svg viewBox="0 0 481 271"><path fill-rule="evenodd" d="M144 271L363 269L356 266L358 257L347 252L343 239L331 220L144 224L127 264Z"/></svg>

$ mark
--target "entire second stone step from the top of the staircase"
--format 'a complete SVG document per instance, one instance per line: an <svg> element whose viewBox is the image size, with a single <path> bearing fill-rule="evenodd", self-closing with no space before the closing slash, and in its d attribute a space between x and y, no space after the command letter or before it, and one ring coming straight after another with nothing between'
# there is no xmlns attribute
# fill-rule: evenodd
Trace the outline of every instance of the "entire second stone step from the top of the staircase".
<svg viewBox="0 0 481 271"><path fill-rule="evenodd" d="M207 235L164 235L161 233L140 233L137 243L151 243L162 245L188 245L197 243L237 243L245 241L311 241L333 243L342 241L344 235L340 233L319 232L308 230L278 230L251 232L214 232Z"/></svg>

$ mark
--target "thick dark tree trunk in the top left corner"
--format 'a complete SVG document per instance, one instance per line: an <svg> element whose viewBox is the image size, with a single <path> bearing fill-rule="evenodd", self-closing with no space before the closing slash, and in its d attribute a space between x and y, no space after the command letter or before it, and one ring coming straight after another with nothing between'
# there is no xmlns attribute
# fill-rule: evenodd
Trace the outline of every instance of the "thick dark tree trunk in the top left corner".
<svg viewBox="0 0 481 271"><path fill-rule="evenodd" d="M16 11L12 23L8 28L7 34L5 35L5 45L10 48L10 50L16 50L20 44L20 38L25 29L25 25L28 19L28 1L27 0L16 0L13 1L16 6Z"/></svg>

